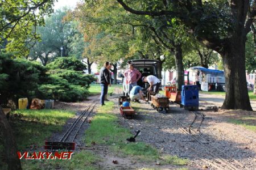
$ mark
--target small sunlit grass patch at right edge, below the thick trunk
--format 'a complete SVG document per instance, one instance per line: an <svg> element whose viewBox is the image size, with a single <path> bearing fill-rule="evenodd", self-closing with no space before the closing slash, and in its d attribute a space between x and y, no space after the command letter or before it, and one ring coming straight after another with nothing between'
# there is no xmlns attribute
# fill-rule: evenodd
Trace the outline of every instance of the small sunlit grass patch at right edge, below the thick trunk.
<svg viewBox="0 0 256 170"><path fill-rule="evenodd" d="M256 131L256 117L242 116L240 118L229 118L229 122L236 125L241 125L248 130Z"/></svg>

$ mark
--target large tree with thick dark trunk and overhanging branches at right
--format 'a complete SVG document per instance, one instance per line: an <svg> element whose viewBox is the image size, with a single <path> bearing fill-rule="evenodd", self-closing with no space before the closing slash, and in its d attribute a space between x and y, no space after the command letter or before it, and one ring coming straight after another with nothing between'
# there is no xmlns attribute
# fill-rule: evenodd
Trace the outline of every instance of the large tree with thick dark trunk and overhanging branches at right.
<svg viewBox="0 0 256 170"><path fill-rule="evenodd" d="M179 18L196 39L221 54L226 78L222 108L251 111L245 76L245 42L256 18L256 1L122 1L136 15Z"/></svg>

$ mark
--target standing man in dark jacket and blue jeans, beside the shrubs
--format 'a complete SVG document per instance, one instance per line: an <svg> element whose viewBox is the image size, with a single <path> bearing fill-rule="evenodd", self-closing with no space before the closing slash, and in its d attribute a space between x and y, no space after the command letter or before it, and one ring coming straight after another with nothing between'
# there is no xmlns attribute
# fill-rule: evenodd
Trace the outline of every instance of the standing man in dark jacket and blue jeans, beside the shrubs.
<svg viewBox="0 0 256 170"><path fill-rule="evenodd" d="M108 94L108 86L110 84L110 73L108 68L110 67L109 62L106 61L104 66L100 70L100 84L101 84L101 105L104 104L105 95Z"/></svg>

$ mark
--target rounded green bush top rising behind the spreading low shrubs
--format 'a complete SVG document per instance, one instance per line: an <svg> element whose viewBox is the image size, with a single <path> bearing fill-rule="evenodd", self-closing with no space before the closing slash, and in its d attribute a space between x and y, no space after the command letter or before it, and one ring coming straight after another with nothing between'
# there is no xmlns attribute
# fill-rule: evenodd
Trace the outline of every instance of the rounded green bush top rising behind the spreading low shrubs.
<svg viewBox="0 0 256 170"><path fill-rule="evenodd" d="M67 69L75 71L84 71L86 66L76 57L58 57L47 65L48 69Z"/></svg>

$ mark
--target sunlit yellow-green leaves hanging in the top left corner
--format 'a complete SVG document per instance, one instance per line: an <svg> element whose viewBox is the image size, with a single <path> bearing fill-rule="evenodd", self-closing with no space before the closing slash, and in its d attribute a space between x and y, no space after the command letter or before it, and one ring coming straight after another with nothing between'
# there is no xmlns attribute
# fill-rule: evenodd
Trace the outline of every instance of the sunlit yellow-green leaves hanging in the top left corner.
<svg viewBox="0 0 256 170"><path fill-rule="evenodd" d="M0 42L7 40L5 52L14 53L16 57L28 55L36 35L35 28L44 24L44 16L53 12L55 1L16 0L0 2Z"/></svg>

